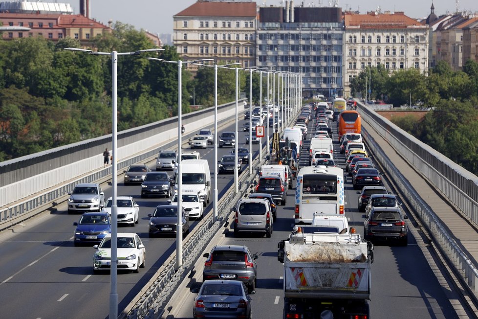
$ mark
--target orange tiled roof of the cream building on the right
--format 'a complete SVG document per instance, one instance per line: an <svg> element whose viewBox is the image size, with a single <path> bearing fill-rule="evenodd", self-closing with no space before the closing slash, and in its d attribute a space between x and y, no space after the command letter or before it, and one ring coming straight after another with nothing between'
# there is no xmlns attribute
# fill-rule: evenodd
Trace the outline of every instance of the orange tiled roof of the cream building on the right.
<svg viewBox="0 0 478 319"><path fill-rule="evenodd" d="M403 12L394 14L346 14L345 27L357 26L362 29L399 29L408 26L425 26L423 23L407 17Z"/></svg>

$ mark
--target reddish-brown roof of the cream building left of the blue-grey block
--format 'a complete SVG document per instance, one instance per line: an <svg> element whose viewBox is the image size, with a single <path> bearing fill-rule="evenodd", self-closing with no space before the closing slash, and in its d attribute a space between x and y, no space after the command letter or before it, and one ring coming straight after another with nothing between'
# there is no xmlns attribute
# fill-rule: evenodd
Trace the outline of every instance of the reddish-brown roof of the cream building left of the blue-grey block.
<svg viewBox="0 0 478 319"><path fill-rule="evenodd" d="M198 1L179 12L186 17L255 17L256 2Z"/></svg>

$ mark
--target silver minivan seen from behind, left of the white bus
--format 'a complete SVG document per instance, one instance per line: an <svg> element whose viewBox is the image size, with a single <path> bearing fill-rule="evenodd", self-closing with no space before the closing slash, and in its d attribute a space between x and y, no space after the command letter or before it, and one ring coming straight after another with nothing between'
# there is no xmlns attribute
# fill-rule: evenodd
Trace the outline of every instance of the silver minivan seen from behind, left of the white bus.
<svg viewBox="0 0 478 319"><path fill-rule="evenodd" d="M267 199L241 199L233 211L236 212L234 236L237 236L239 231L254 231L265 232L268 238L271 237L273 214Z"/></svg>

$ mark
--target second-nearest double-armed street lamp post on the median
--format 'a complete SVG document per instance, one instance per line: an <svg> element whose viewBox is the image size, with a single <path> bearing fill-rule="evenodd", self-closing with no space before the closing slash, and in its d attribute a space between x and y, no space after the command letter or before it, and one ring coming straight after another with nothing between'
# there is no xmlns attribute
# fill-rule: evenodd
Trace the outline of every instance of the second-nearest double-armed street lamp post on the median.
<svg viewBox="0 0 478 319"><path fill-rule="evenodd" d="M183 238L182 238L182 172L181 172L181 156L182 156L182 65L194 64L197 62L214 61L213 59L200 59L195 61L168 61L158 58L147 58L148 60L156 60L162 63L173 63L177 65L177 135L178 135L178 152L177 152L177 226L176 226L176 270L183 264ZM207 198L207 195L206 195ZM206 201L206 199L204 199ZM116 317L115 317L116 318Z"/></svg>

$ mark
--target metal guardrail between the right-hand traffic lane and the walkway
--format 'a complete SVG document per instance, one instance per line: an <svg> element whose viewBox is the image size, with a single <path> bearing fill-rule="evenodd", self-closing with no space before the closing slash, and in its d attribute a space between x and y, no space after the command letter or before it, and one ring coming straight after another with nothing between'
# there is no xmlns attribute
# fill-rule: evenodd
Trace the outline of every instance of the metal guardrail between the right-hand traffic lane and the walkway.
<svg viewBox="0 0 478 319"><path fill-rule="evenodd" d="M372 124L372 122L375 122L372 119L368 118L368 116L362 115L362 118L364 118L370 124ZM379 126L378 123L376 124L377 125L373 125L374 129L383 130L383 127ZM367 140L369 147L373 150L377 160L379 160L381 164L385 167L385 169L389 172L394 182L400 188L400 192L405 198L407 198L410 205L420 217L422 223L428 228L429 232L435 238L435 242L440 248L440 250L443 251L449 261L453 264L457 272L461 275L463 281L468 285L469 289L474 294L475 298L478 298L478 270L473 265L470 258L456 244L455 240L452 236L450 236L447 229L443 227L440 219L436 216L435 212L418 195L410 182L408 182L408 180L400 173L400 171L398 171L395 165L393 165L391 160L382 151L380 146L377 145L375 140L367 133L367 131L363 131L362 134ZM392 141L389 140L389 142ZM396 145L393 146L396 147ZM397 151L399 153L403 152L403 144L399 143L399 146L401 146L402 149ZM406 153L410 152L411 151L408 150L408 152ZM415 157L416 155L413 155L413 158ZM409 159L410 158L411 157L409 157ZM453 186L450 185L449 187Z"/></svg>

